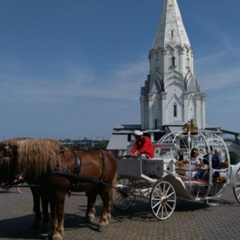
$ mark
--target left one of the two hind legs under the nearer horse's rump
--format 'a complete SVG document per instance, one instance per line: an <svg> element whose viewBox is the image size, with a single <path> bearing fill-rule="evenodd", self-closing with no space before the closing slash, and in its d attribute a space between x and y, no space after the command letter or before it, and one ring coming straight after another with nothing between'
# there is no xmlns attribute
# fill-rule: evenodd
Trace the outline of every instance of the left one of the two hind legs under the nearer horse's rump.
<svg viewBox="0 0 240 240"><path fill-rule="evenodd" d="M87 222L92 223L95 220L97 193L94 190L90 190L86 192L86 195L87 195L87 212L85 219Z"/></svg>

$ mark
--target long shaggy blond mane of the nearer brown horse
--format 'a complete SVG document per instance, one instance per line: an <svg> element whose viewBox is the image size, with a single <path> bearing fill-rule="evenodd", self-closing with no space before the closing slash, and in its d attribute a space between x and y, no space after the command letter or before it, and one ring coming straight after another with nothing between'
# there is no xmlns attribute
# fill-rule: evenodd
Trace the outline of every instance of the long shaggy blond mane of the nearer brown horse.
<svg viewBox="0 0 240 240"><path fill-rule="evenodd" d="M37 178L60 164L58 153L61 143L53 139L24 139L17 141L18 170Z"/></svg>

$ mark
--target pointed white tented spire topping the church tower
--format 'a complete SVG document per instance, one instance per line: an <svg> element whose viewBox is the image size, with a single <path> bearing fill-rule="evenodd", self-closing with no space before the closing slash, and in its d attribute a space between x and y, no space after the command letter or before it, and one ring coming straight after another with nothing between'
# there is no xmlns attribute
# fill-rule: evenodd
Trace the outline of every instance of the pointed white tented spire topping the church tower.
<svg viewBox="0 0 240 240"><path fill-rule="evenodd" d="M177 0L164 0L152 48L164 48L167 45L190 47Z"/></svg>

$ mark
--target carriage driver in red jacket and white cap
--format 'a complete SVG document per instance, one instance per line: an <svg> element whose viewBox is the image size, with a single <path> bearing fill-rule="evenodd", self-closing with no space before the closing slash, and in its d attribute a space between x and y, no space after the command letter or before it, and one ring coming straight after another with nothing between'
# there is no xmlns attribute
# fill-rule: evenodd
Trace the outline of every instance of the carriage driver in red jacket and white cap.
<svg viewBox="0 0 240 240"><path fill-rule="evenodd" d="M136 142L129 155L133 157L153 158L154 148L150 138L143 136L143 132L139 130L134 131L134 136Z"/></svg>

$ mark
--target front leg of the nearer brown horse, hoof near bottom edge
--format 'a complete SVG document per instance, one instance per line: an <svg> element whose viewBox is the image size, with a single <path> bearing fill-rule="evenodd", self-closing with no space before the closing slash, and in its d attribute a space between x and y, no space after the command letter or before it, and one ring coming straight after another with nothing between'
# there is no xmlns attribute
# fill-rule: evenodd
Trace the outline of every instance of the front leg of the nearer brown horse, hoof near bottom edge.
<svg viewBox="0 0 240 240"><path fill-rule="evenodd" d="M54 191L52 189L49 196L50 209L51 209L51 229L48 232L48 239L62 240L64 235L64 202L65 191Z"/></svg>

